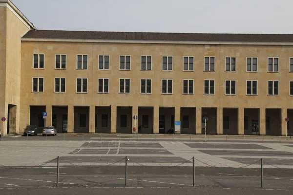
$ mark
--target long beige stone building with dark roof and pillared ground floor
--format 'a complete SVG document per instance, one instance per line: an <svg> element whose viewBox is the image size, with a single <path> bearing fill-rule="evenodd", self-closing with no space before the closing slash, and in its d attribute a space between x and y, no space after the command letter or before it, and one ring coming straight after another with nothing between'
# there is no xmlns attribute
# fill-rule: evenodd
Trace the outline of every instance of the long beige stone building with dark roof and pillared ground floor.
<svg viewBox="0 0 293 195"><path fill-rule="evenodd" d="M293 133L293 35L37 30L12 6L0 0L4 134L133 133L135 115L146 134L203 134L204 117L208 134Z"/></svg>

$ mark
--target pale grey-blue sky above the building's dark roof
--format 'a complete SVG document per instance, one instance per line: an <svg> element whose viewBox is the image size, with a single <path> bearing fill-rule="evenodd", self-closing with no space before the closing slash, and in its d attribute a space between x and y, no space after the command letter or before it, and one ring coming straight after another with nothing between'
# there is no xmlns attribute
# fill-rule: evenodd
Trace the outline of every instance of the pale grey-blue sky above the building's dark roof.
<svg viewBox="0 0 293 195"><path fill-rule="evenodd" d="M48 30L293 33L293 0L12 0Z"/></svg>

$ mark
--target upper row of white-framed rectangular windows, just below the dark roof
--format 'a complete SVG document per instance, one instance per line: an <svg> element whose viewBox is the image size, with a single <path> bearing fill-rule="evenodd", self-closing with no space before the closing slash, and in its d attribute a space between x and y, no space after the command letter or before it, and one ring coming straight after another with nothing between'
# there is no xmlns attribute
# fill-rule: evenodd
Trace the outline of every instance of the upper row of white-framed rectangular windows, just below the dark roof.
<svg viewBox="0 0 293 195"><path fill-rule="evenodd" d="M44 54L33 55L33 68L44 68ZM215 57L204 57L204 71L215 71ZM257 58L247 58L247 72L257 72ZM88 55L77 55L77 69L88 69ZM130 70L131 57L120 56L119 70ZM66 55L55 55L55 69L66 69ZM109 70L109 56L99 55L99 70ZM152 57L141 56L141 70L152 70ZM173 57L162 57L162 70L173 71ZM183 71L194 71L194 57L183 57ZM236 72L236 57L226 57L226 72ZM279 58L268 58L268 72L279 72ZM293 72L293 58L290 58L290 72Z"/></svg>

